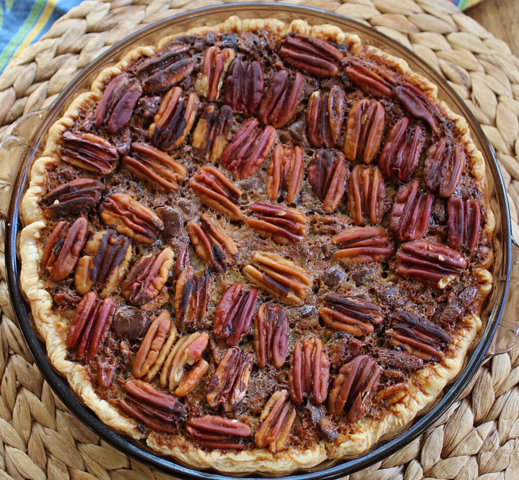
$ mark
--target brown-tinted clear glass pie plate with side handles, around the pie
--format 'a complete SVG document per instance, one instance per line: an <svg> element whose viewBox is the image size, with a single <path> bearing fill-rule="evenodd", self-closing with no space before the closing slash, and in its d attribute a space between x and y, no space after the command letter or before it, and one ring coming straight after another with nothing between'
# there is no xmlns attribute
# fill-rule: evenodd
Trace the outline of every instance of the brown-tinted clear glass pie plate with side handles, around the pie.
<svg viewBox="0 0 519 480"><path fill-rule="evenodd" d="M66 380L52 369L46 356L45 346L37 337L35 329L32 328L30 306L24 301L18 283L20 259L17 256L17 237L22 226L19 221L19 203L28 186L30 166L43 151L50 125L62 116L73 98L79 93L89 90L92 80L97 77L98 73L106 66L116 63L129 50L137 46L156 44L162 37L183 32L194 26L220 23L231 15L238 15L240 18L275 17L285 22L303 19L310 24L337 25L346 32L358 34L364 43L405 59L415 72L425 76L438 86L439 98L468 120L472 138L477 148L483 152L486 161L488 194L491 208L496 215L496 231L493 272L495 283L482 315L484 328L473 343L460 375L444 389L438 399L427 406L427 411L420 412L414 421L408 423L402 431L393 434L390 438L382 439L359 457L327 460L315 468L294 471L283 477L293 480L337 478L384 459L434 425L449 405L457 400L470 385L480 366L491 356L511 348L518 331L519 247L511 235L506 190L494 153L470 110L448 83L411 51L371 27L330 12L308 7L272 3L232 4L189 11L149 25L103 53L101 57L80 72L52 105L22 117L12 126L4 142L0 144L0 210L6 218L6 270L11 301L25 340L47 382L71 412L95 433L123 453L176 477L228 478L215 471L198 471L189 465L173 461L171 458L161 457L150 450L144 441L132 441L129 437L112 431L75 396ZM1 229L0 235L2 235ZM254 475L239 478L254 478Z"/></svg>

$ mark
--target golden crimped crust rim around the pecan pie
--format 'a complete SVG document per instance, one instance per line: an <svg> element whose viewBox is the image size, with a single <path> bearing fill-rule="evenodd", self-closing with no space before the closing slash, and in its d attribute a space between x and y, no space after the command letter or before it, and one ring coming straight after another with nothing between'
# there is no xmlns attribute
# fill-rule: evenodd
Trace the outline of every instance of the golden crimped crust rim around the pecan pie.
<svg viewBox="0 0 519 480"><path fill-rule="evenodd" d="M361 53L366 57L377 59L380 63L390 66L395 72L405 76L408 82L418 87L436 105L440 106L446 118L455 122L456 128L462 132L462 142L465 144L467 162L476 185L482 192L487 191L485 163L482 154L476 149L469 134L465 119L456 115L448 106L436 98L437 88L427 79L417 75L409 69L407 63L399 58L371 46L363 46L356 35L351 35L333 25L310 26L305 21L294 20L286 24L277 19L250 19L240 20L230 17L225 22L215 26L204 26L191 29L187 34L204 35L209 32L253 32L266 30L273 34L285 35L300 33L338 44L347 44L352 53ZM180 36L180 34L179 34ZM143 439L138 428L138 422L121 413L119 408L98 397L86 373L86 367L67 360L66 342L63 337L65 324L63 319L53 313L52 297L46 289L46 282L40 271L42 246L38 240L46 228L47 219L39 206L40 198L46 193L45 176L48 170L59 161L59 138L61 134L72 126L80 109L94 105L99 101L103 84L107 79L123 72L136 59L150 57L162 45L173 37L163 39L157 47L139 47L131 51L126 57L114 66L105 68L92 83L91 91L82 93L72 102L63 118L53 124L48 133L47 143L43 156L38 158L32 166L30 187L23 197L22 217L25 225L20 236L20 254L22 269L20 284L26 298L31 304L34 323L39 334L45 339L47 354L54 368L68 380L74 392L91 408L93 412L107 426L124 432L133 439ZM487 220L484 225L485 234L492 238L495 219L488 204ZM492 275L489 271L493 264L493 253L488 252L487 261L477 269L479 276L479 301L483 305L492 289ZM158 453L171 455L177 460L196 468L213 468L222 472L266 472L273 474L289 473L299 468L313 467L323 460L336 459L344 456L356 456L375 445L380 439L395 436L421 410L429 405L444 387L456 377L462 369L467 352L482 327L479 316L468 314L459 322L453 332L451 341L445 350L445 357L438 363L427 364L426 368L412 374L409 378L411 390L398 403L388 407L384 418L374 419L364 416L357 422L354 433L339 434L333 443L324 440L308 449L289 447L276 454L267 449L253 448L243 451L207 450L199 448L189 438L183 435L169 436L168 442L163 441L163 434L151 432L147 435L147 445Z"/></svg>

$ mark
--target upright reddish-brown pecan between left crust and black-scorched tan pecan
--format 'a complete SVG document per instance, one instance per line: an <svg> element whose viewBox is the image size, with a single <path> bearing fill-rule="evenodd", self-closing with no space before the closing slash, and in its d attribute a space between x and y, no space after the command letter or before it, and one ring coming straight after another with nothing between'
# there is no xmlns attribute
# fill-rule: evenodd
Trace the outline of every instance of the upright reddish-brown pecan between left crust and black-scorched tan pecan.
<svg viewBox="0 0 519 480"><path fill-rule="evenodd" d="M70 223L62 221L54 227L42 255L42 270L52 280L64 280L74 271L87 233L88 220L85 217Z"/></svg>

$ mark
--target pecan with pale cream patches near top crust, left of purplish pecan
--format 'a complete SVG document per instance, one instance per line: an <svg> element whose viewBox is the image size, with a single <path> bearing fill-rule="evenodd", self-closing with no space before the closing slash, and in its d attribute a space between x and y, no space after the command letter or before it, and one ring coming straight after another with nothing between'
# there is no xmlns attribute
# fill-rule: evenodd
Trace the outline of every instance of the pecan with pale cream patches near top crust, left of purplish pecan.
<svg viewBox="0 0 519 480"><path fill-rule="evenodd" d="M209 47L203 55L202 67L195 80L195 90L210 102L214 102L222 88L225 73L236 57L232 48Z"/></svg>

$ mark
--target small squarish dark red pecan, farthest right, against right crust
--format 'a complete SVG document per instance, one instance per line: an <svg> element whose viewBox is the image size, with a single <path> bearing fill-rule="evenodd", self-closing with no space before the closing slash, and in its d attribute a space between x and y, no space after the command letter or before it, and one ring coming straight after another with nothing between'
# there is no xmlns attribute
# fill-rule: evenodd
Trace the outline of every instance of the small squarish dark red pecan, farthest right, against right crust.
<svg viewBox="0 0 519 480"><path fill-rule="evenodd" d="M477 200L463 202L459 196L452 196L447 203L447 213L450 246L473 250L480 235L480 203Z"/></svg>

